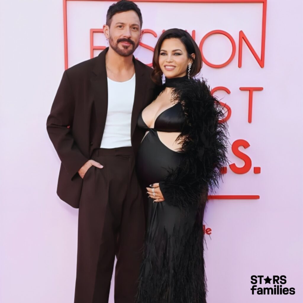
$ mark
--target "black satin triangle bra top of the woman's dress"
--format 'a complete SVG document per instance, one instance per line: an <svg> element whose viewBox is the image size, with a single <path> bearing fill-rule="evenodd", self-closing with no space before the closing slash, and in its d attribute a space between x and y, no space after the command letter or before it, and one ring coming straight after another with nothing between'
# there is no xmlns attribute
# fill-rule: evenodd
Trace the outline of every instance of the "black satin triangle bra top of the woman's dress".
<svg viewBox="0 0 303 303"><path fill-rule="evenodd" d="M181 103L165 109L155 120L154 128L149 128L143 121L142 112L138 118L138 126L143 129L154 129L158 132L181 132L185 116Z"/></svg>

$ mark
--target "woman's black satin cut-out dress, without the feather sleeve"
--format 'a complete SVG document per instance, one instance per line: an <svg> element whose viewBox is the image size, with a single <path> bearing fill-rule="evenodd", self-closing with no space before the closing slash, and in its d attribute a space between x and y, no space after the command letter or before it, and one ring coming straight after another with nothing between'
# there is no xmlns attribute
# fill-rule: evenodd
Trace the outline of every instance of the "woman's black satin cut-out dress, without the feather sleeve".
<svg viewBox="0 0 303 303"><path fill-rule="evenodd" d="M137 155L137 173L144 187L164 180L169 171L180 165L185 155L166 147L157 131L180 133L184 120L181 103L162 112L154 128L148 128L142 113L139 115L138 126L149 131ZM136 302L205 303L204 278L201 209L192 205L185 215L171 201L153 202L148 198L144 258Z"/></svg>

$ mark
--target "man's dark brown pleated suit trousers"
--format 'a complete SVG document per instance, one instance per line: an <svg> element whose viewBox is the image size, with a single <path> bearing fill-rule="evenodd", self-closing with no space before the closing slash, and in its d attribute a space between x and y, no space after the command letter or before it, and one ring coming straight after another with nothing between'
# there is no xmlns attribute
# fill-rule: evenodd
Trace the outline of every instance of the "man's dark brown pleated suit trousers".
<svg viewBox="0 0 303 303"><path fill-rule="evenodd" d="M133 303L145 233L132 147L99 148L83 178L75 303L107 303L115 256L115 303Z"/></svg>

